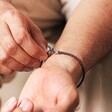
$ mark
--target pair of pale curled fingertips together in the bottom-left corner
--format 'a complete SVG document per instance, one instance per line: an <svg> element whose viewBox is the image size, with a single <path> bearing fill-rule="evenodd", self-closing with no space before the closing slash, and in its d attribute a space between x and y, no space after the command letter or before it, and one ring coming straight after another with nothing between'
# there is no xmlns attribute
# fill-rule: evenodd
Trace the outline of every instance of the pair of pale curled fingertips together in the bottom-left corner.
<svg viewBox="0 0 112 112"><path fill-rule="evenodd" d="M33 111L33 104L28 99L22 100L22 102L18 105L18 100L15 97L11 97L1 109L1 112L32 112L32 111Z"/></svg>

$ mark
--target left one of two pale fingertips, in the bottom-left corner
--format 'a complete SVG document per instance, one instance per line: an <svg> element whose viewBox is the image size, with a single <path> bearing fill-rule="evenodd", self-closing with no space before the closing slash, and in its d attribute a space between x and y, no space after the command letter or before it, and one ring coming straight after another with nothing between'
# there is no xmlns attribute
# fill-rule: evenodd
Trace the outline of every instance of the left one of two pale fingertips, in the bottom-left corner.
<svg viewBox="0 0 112 112"><path fill-rule="evenodd" d="M12 112L17 106L17 99L11 97L2 107L1 112Z"/></svg>

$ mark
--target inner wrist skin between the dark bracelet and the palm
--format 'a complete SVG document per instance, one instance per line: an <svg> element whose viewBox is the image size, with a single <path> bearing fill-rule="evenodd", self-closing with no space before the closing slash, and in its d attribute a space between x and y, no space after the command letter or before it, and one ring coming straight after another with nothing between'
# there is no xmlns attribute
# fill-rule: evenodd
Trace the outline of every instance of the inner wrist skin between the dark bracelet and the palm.
<svg viewBox="0 0 112 112"><path fill-rule="evenodd" d="M56 67L63 69L70 73L75 84L77 84L81 78L82 69L78 61L67 55L56 55L50 56L42 67Z"/></svg>

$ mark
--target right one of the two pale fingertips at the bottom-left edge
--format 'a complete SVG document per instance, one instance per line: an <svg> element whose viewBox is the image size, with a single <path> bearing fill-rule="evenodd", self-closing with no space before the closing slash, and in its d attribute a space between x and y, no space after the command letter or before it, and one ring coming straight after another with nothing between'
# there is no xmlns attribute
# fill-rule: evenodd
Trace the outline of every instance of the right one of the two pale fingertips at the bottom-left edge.
<svg viewBox="0 0 112 112"><path fill-rule="evenodd" d="M30 112L33 109L33 104L29 100L24 99L19 104L19 107L25 112Z"/></svg>

